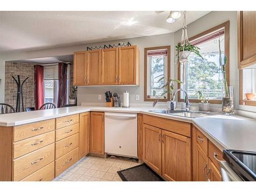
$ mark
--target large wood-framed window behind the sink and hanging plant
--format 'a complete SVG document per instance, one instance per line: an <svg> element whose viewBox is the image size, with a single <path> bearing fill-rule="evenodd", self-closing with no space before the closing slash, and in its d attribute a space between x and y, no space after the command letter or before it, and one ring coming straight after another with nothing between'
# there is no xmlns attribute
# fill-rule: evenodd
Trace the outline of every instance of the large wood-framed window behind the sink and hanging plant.
<svg viewBox="0 0 256 192"><path fill-rule="evenodd" d="M229 22L216 26L189 39L190 43L200 48L203 59L194 53L188 56L188 62L180 65L179 79L183 82L179 88L187 91L190 102L199 102L198 91L210 99L210 103L221 103L222 73L219 63L219 40L222 59L227 56L227 80L229 79ZM184 71L184 73L183 73ZM229 83L229 82L228 82ZM179 101L184 101L185 94L179 94Z"/></svg>

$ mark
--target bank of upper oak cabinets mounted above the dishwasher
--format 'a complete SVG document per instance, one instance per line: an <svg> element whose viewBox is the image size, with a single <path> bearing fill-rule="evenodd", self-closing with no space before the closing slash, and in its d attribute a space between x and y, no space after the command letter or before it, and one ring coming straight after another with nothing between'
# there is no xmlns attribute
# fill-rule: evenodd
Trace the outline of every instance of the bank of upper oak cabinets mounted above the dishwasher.
<svg viewBox="0 0 256 192"><path fill-rule="evenodd" d="M139 85L137 46L74 52L74 86Z"/></svg>

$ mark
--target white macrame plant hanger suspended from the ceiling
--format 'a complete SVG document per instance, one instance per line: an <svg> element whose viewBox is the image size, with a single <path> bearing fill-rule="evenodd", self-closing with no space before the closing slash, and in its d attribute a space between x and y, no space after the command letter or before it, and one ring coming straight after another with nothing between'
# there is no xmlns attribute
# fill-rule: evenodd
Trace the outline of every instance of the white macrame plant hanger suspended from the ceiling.
<svg viewBox="0 0 256 192"><path fill-rule="evenodd" d="M185 78L185 64L187 63L188 55L190 52L185 51L185 45L188 42L188 37L187 37L187 22L186 22L186 11L183 12L184 19L183 19L183 27L182 27L182 35L180 39L180 45L182 46L182 52L179 53L179 65L183 64L183 74L182 74L182 82L185 83L184 78ZM185 56L185 58L183 58Z"/></svg>

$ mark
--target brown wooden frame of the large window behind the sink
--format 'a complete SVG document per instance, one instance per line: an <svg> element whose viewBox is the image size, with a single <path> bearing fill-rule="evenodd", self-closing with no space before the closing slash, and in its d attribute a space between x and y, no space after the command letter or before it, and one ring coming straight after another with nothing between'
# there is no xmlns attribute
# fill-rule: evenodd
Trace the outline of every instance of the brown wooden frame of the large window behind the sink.
<svg viewBox="0 0 256 192"><path fill-rule="evenodd" d="M227 84L229 86L229 20L227 22L224 22L220 25L217 25L213 28L210 28L202 33L199 33L193 37L190 37L188 40L192 41L194 39L200 38L208 33L217 31L218 29L224 28L224 37L225 37L225 55L227 56L227 64L226 64L226 75L227 75ZM180 73L181 73L181 68L180 65L178 65L178 79L180 80ZM178 83L178 89L180 89L180 83ZM195 102L198 103L200 102L200 99L189 99L189 102ZM184 99L181 99L181 94L178 92L178 102L184 102ZM210 99L209 103L212 104L221 104L221 99Z"/></svg>

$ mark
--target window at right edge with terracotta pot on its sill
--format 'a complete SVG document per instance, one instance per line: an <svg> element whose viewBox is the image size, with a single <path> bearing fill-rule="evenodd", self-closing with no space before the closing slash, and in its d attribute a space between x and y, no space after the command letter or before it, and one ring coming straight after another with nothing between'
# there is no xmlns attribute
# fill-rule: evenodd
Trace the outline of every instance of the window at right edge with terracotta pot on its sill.
<svg viewBox="0 0 256 192"><path fill-rule="evenodd" d="M239 70L240 104L256 106L256 64Z"/></svg>

